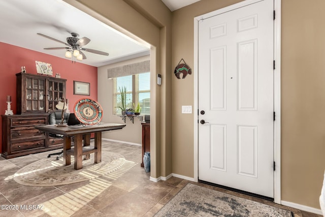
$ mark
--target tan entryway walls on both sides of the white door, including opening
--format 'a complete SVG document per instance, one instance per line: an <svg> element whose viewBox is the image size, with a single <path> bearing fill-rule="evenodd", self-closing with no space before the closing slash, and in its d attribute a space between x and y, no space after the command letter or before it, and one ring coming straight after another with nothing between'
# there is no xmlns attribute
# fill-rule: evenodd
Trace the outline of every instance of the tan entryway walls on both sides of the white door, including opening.
<svg viewBox="0 0 325 217"><path fill-rule="evenodd" d="M173 173L193 177L194 113L181 114L181 105L193 106L193 75L177 80L173 71L181 58L193 67L193 18L241 0L202 0L173 12L171 45L170 15L161 13L159 1L81 2L89 3L90 8L157 49L153 58L157 60L156 73L163 74L163 85L157 87L155 79L152 81L157 98L155 109L161 115L155 115L155 145L151 148L159 154L154 156L155 162L151 162L155 168L151 175L166 176L172 168ZM125 2L137 11L126 7ZM324 8L323 0L282 1L281 200L315 208L319 208L325 165ZM169 54L172 56L171 64L168 64ZM172 133L168 130L169 123ZM171 154L172 160L169 159ZM168 164L172 165L167 167Z"/></svg>

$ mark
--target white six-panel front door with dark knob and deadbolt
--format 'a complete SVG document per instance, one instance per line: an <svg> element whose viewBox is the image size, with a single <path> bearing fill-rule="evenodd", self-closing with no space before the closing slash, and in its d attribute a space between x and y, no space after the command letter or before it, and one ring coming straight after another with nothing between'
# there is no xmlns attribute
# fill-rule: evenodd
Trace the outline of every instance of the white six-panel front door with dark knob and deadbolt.
<svg viewBox="0 0 325 217"><path fill-rule="evenodd" d="M199 179L271 198L273 10L264 0L201 20L198 72Z"/></svg>

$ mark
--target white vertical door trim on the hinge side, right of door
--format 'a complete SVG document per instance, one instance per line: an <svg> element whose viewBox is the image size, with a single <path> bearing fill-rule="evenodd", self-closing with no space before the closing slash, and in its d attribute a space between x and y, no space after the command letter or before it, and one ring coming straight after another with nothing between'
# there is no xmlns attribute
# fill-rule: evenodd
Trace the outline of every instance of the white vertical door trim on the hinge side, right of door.
<svg viewBox="0 0 325 217"><path fill-rule="evenodd" d="M281 201L281 0L274 0L274 202Z"/></svg>

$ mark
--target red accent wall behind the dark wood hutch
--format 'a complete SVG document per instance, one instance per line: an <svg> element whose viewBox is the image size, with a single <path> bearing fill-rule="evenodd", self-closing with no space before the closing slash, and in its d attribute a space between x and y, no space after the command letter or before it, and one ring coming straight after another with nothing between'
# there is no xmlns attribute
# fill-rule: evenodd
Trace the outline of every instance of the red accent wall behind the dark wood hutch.
<svg viewBox="0 0 325 217"><path fill-rule="evenodd" d="M0 113L5 114L7 110L6 97L11 96L11 109L16 114L16 73L21 72L21 66L26 67L26 72L37 74L35 61L42 61L52 65L53 76L60 73L61 78L67 79L67 99L69 109L73 110L75 102L81 98L97 100L97 67L88 66L76 61L62 57L40 53L34 50L13 46L0 42ZM90 96L74 95L73 81L90 83ZM2 124L0 125L0 138L2 150Z"/></svg>

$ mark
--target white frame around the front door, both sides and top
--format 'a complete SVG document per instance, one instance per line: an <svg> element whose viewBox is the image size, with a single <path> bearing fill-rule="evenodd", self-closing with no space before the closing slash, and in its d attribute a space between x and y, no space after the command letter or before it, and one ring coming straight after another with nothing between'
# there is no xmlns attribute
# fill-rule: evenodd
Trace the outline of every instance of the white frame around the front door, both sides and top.
<svg viewBox="0 0 325 217"><path fill-rule="evenodd" d="M199 21L218 14L232 11L247 5L251 5L263 0L245 0L219 10L194 17L194 99L193 111L198 111L193 115L194 123L194 181L199 181ZM281 204L281 0L274 0L275 20L274 20L274 202Z"/></svg>

